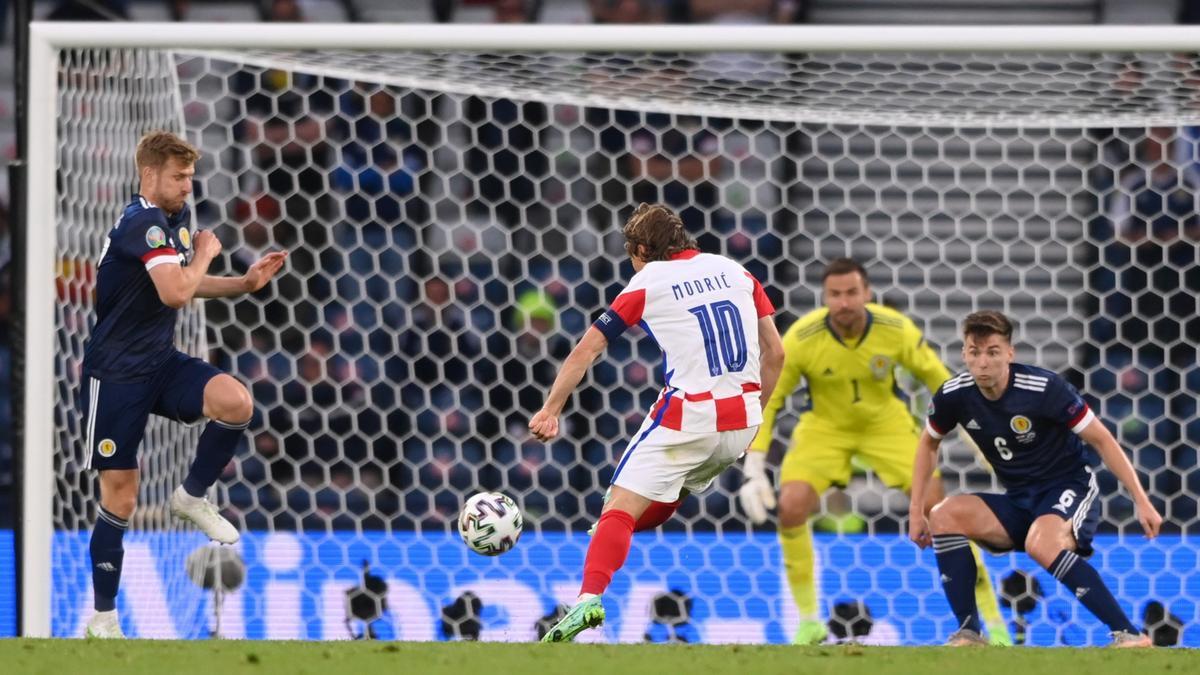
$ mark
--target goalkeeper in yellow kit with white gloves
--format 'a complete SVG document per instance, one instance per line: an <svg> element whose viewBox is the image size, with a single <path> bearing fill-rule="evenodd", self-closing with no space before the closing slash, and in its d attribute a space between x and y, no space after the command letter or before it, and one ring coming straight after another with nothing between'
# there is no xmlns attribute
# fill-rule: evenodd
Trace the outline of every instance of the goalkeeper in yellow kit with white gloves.
<svg viewBox="0 0 1200 675"><path fill-rule="evenodd" d="M784 566L800 614L797 644L824 641L826 623L817 611L812 574L812 528L809 516L830 485L846 485L851 460L859 458L889 488L910 491L920 437L907 405L895 395L895 366L930 392L950 374L920 330L900 312L868 301L870 286L859 263L840 258L822 277L824 307L800 317L784 335L784 371L763 410L762 426L746 453L746 483L738 494L750 519L761 524L775 492L764 468L775 416L784 401L808 381L811 410L800 416L784 458L779 489L779 539ZM942 500L941 477L925 492L925 512ZM979 550L976 602L994 644L1012 644Z"/></svg>

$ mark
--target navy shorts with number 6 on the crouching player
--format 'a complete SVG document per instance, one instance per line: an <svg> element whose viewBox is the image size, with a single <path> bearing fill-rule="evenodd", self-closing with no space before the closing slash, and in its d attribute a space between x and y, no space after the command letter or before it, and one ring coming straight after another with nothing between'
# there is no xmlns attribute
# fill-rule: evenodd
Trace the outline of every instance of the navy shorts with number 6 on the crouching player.
<svg viewBox="0 0 1200 675"><path fill-rule="evenodd" d="M974 492L996 514L1013 540L1013 550L1025 550L1025 537L1039 516L1052 513L1070 522L1078 544L1075 552L1092 555L1092 537L1100 522L1099 488L1091 470L1078 477L1010 490L1003 495Z"/></svg>

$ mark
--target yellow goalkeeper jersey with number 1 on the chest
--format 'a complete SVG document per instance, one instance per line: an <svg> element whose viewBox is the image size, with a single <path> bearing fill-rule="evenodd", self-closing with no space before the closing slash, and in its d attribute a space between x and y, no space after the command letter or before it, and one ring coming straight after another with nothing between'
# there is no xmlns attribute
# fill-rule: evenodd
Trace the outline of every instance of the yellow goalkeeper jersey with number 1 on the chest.
<svg viewBox="0 0 1200 675"><path fill-rule="evenodd" d="M811 410L800 416L805 431L863 434L872 429L912 424L908 407L896 396L895 366L917 377L930 392L950 374L925 342L912 319L878 305L866 305L866 330L842 342L828 322L829 310L814 310L784 334L784 370L763 411L762 426L751 448L766 450L775 416L800 383L808 382Z"/></svg>

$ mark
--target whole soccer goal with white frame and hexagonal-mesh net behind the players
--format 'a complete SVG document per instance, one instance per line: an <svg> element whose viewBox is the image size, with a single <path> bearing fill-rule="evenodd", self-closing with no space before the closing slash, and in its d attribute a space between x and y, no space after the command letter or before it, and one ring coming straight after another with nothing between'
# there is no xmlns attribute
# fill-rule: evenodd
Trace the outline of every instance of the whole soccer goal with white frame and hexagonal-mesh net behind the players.
<svg viewBox="0 0 1200 675"><path fill-rule="evenodd" d="M23 633L76 634L90 603L74 412L89 265L134 186L133 143L154 127L204 154L197 226L224 240L227 270L293 251L269 291L197 304L179 334L246 382L260 413L217 488L247 532L247 589L226 602L233 634L343 635L340 593L368 558L404 639L434 639L437 608L464 590L505 608L485 639L528 639L574 595L582 532L655 394L653 350L613 345L564 440L529 446L521 423L626 279L618 226L638 201L667 202L702 247L743 262L781 322L820 304L821 265L846 255L952 370L967 311L1013 315L1020 358L1098 399L1166 507L1172 536L1139 548L1110 490L1117 552L1102 572L1127 605L1146 587L1186 603L1175 561L1194 560L1200 490L1184 467L1200 428L1182 395L1200 383L1187 360L1198 52L1200 30L1183 26L35 23ZM1140 196L1157 180L1165 196L1147 214ZM138 634L209 628L182 571L203 542L156 508L194 438L161 424L143 444L137 565L122 580L122 596L142 591L122 599ZM992 484L962 448L944 471L952 490ZM679 584L703 605L703 639L786 639L794 610L774 538L733 506L736 473L692 500L643 567L631 561L613 639L640 640L653 615L635 620ZM448 543L450 514L478 489L529 516L522 544L487 565ZM942 607L929 561L894 534L906 500L871 476L847 495L868 534L821 539L826 609L863 597L900 641L944 633L924 614ZM1022 568L992 561L997 578ZM1090 617L1064 611L1069 626L1034 625L1037 639L1100 641Z"/></svg>

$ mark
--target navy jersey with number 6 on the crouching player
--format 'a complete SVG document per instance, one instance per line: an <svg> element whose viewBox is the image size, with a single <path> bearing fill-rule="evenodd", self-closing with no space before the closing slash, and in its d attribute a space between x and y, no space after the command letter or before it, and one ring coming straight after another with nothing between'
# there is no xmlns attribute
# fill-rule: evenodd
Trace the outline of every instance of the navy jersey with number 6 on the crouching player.
<svg viewBox="0 0 1200 675"><path fill-rule="evenodd" d="M983 396L970 372L947 380L929 405L925 429L941 438L962 425L1000 483L1019 489L1082 474L1087 460L1078 434L1094 418L1057 374L1014 363L996 401Z"/></svg>

